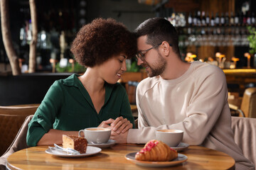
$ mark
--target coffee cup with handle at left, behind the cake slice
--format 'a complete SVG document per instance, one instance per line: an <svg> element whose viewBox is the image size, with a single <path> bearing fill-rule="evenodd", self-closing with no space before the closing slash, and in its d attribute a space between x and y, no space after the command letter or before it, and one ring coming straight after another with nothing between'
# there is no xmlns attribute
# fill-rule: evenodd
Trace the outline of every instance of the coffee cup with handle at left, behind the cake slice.
<svg viewBox="0 0 256 170"><path fill-rule="evenodd" d="M108 128L85 128L79 130L78 135L84 133L87 142L94 144L106 143L110 140L111 130Z"/></svg>

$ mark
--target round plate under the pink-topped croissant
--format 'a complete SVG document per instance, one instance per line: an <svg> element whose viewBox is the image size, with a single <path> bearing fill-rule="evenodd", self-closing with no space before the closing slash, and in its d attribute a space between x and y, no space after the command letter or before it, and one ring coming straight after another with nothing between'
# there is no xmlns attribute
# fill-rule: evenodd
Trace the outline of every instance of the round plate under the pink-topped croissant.
<svg viewBox="0 0 256 170"><path fill-rule="evenodd" d="M181 164L182 162L186 162L188 157L184 154L178 154L178 157L174 160L171 160L169 162L146 162L146 161L138 161L135 159L135 154L137 152L132 152L127 155L125 155L125 158L131 162L134 162L137 165L141 166L148 166L148 167L164 167L164 166L174 166L176 164Z"/></svg>

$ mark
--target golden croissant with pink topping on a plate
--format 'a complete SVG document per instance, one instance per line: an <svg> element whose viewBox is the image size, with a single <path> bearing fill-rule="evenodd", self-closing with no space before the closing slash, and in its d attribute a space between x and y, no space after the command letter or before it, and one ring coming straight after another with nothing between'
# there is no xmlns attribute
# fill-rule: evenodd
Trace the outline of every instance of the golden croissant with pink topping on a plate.
<svg viewBox="0 0 256 170"><path fill-rule="evenodd" d="M136 160L149 162L168 162L177 157L178 153L176 150L171 149L168 145L159 140L146 142L144 148L135 155Z"/></svg>

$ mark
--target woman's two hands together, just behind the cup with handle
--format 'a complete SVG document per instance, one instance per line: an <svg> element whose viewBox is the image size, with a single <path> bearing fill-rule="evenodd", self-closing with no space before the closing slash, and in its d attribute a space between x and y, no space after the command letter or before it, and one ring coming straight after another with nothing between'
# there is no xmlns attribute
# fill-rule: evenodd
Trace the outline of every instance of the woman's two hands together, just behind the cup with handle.
<svg viewBox="0 0 256 170"><path fill-rule="evenodd" d="M132 128L132 123L130 123L127 118L123 118L122 116L120 116L115 120L110 118L108 120L102 121L102 123L100 123L98 127L111 128L113 132L120 134L121 132L127 132L127 130Z"/></svg>

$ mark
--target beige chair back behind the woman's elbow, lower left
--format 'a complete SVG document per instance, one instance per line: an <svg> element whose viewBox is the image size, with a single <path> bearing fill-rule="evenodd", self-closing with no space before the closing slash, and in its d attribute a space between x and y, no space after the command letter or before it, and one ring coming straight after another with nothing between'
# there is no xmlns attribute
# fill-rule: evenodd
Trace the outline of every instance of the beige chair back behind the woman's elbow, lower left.
<svg viewBox="0 0 256 170"><path fill-rule="evenodd" d="M16 135L14 140L11 142L11 145L9 145L6 152L0 157L0 169L6 169L5 167L6 159L12 153L28 147L28 145L26 145L26 134L28 132L28 123L31 121L32 118L33 118L33 115L28 115L26 117L26 120L23 122L23 125L18 130L18 134Z"/></svg>

